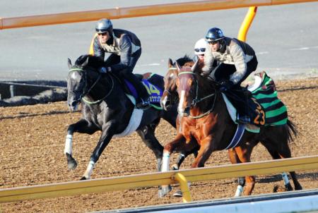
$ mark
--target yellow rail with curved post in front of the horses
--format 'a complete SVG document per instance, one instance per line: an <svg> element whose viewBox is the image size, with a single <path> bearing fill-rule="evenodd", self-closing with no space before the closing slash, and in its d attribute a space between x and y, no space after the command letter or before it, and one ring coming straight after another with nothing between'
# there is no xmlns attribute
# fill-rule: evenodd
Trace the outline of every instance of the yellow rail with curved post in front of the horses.
<svg viewBox="0 0 318 213"><path fill-rule="evenodd" d="M185 169L180 171L156 172L131 176L100 178L88 181L72 181L67 183L52 183L46 185L26 186L0 190L0 203L20 200L33 200L48 197L63 197L86 193L102 193L114 190L129 190L134 188L167 185L182 181L184 202L191 200L187 181L211 181L222 178L274 174L283 171L318 169L318 155L296 157L266 162L213 166L200 169Z"/></svg>

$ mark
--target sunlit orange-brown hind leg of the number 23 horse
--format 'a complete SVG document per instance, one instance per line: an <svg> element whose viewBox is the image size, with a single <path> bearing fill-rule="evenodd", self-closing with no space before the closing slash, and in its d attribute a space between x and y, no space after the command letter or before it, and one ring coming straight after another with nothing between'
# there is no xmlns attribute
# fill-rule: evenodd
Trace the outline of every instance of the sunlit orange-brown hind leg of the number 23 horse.
<svg viewBox="0 0 318 213"><path fill-rule="evenodd" d="M253 143L250 143L253 144ZM248 146L242 145L240 147L235 147L235 152L237 154L238 159L242 163L251 162L251 154L254 146ZM251 195L252 190L255 186L255 177L254 176L245 176L245 181L242 180L242 178L239 178L239 184L245 184L245 190L243 192L243 195ZM235 194L236 195L236 194Z"/></svg>

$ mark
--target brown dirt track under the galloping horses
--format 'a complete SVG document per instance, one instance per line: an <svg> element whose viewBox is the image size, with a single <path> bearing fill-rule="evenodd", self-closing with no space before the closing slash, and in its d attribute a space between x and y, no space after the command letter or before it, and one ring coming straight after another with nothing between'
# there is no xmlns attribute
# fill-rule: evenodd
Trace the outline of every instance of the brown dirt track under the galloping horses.
<svg viewBox="0 0 318 213"><path fill-rule="evenodd" d="M278 96L288 107L290 119L300 135L290 144L293 157L318 154L318 78L276 82ZM90 153L100 133L73 136L75 171L68 171L64 157L66 128L78 120L80 113L70 113L65 102L25 107L0 107L0 188L74 181L81 178ZM156 130L162 144L172 140L173 129L165 121ZM174 155L176 156L176 154ZM257 146L252 161L271 159L264 147ZM173 161L173 159L172 159ZM192 157L182 168L189 168ZM206 166L229 164L227 152L215 152ZM155 171L155 157L136 133L110 142L93 171L92 178L142 174ZM318 188L318 169L299 171L304 189ZM233 179L194 183L190 188L193 200L232 197ZM258 176L254 195L271 193L275 185L283 186L278 175ZM170 194L171 195L171 194ZM181 198L157 197L157 188L115 191L52 199L0 204L0 212L91 212L182 202Z"/></svg>

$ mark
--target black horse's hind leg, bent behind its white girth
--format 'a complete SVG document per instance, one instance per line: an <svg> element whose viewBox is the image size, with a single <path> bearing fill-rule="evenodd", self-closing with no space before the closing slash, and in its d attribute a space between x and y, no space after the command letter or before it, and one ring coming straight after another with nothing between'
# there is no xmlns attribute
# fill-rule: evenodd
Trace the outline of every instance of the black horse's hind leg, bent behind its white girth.
<svg viewBox="0 0 318 213"><path fill-rule="evenodd" d="M160 142L155 138L155 128L156 125L148 125L136 132L141 137L141 140L150 148L157 159L157 171L160 171L161 160L163 158L163 146L160 145Z"/></svg>

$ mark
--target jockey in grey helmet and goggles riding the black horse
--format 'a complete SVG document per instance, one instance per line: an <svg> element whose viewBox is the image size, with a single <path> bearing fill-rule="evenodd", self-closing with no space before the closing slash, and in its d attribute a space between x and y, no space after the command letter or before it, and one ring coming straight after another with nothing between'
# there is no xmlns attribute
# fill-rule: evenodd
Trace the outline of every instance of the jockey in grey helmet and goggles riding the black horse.
<svg viewBox="0 0 318 213"><path fill-rule="evenodd" d="M93 55L99 56L102 60L105 53L110 56L105 60L105 67L100 68L101 73L118 73L129 80L139 92L139 100L136 100L136 107L147 109L149 107L148 92L141 81L132 73L141 56L141 42L132 32L122 29L113 29L112 22L102 18L96 23L96 34L92 41Z"/></svg>

